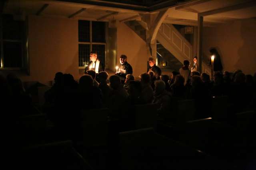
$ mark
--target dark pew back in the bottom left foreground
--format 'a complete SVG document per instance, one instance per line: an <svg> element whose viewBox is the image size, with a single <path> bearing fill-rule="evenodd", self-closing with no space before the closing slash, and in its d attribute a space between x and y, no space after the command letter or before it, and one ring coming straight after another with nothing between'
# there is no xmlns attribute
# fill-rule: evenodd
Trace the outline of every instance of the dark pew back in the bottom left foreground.
<svg viewBox="0 0 256 170"><path fill-rule="evenodd" d="M72 141L60 141L22 148L18 156L18 168L22 169L74 169L91 170L92 167L74 149ZM16 162L15 162L16 164Z"/></svg>

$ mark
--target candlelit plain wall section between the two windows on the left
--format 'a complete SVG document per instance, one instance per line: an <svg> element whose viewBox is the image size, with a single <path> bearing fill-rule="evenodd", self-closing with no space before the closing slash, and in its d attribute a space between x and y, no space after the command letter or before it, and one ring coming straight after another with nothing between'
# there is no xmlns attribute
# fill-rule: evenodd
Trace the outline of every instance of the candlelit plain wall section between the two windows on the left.
<svg viewBox="0 0 256 170"><path fill-rule="evenodd" d="M78 73L78 21L66 18L29 16L30 76L22 81L48 85L56 72Z"/></svg>

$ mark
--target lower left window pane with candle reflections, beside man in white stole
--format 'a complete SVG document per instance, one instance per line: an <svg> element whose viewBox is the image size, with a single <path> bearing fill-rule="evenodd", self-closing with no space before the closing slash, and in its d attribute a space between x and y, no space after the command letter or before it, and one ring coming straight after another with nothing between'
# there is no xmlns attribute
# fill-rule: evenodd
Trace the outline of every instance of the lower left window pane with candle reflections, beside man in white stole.
<svg viewBox="0 0 256 170"><path fill-rule="evenodd" d="M90 61L90 45L89 44L78 44L79 51L79 66L85 66Z"/></svg>

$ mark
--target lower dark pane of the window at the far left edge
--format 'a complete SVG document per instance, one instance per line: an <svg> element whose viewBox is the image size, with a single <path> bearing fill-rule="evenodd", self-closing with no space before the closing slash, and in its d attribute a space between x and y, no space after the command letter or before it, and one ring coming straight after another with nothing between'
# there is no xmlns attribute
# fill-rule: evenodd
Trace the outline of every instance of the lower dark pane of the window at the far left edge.
<svg viewBox="0 0 256 170"><path fill-rule="evenodd" d="M4 41L4 67L22 66L22 46L18 42Z"/></svg>

